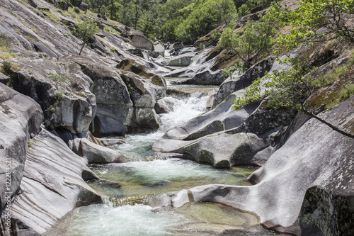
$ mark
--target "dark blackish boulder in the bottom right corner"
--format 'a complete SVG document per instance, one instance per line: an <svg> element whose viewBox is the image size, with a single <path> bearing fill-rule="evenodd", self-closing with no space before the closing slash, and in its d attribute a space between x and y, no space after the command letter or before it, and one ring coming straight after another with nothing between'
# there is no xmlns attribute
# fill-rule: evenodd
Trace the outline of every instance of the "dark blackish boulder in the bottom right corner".
<svg viewBox="0 0 354 236"><path fill-rule="evenodd" d="M354 235L353 172L341 174L307 189L299 215L302 235Z"/></svg>

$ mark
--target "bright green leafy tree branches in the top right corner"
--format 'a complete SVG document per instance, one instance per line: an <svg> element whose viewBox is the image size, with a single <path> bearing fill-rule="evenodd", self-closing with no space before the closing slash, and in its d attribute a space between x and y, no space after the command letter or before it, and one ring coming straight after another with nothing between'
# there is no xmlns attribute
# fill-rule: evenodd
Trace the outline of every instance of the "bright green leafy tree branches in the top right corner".
<svg viewBox="0 0 354 236"><path fill-rule="evenodd" d="M290 49L333 34L354 42L354 30L346 20L346 16L353 18L353 0L300 0L298 6L291 11L286 6L273 4L266 13L268 21L292 26L289 34L279 35L279 45Z"/></svg>

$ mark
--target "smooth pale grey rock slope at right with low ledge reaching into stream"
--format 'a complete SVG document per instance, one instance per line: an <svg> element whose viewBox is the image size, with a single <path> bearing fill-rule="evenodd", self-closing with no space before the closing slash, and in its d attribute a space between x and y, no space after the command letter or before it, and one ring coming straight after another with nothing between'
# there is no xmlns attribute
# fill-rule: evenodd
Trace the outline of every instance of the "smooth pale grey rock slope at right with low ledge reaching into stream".
<svg viewBox="0 0 354 236"><path fill-rule="evenodd" d="M350 132L354 124L353 111L354 96L319 116ZM249 179L256 185L199 186L179 192L172 205L183 206L190 199L219 202L256 213L267 228L295 234L299 234L296 222L301 212L299 221L304 235L308 235L307 232L321 234L326 229L333 235L341 235L340 232L346 235L353 230L353 221L343 220L339 224L341 217L335 219L334 216L353 215L349 195L353 193L353 181L347 181L353 178L353 145L350 137L311 119L274 152L263 167L253 172ZM348 204L348 207L333 203ZM343 229L338 228L337 223Z"/></svg>

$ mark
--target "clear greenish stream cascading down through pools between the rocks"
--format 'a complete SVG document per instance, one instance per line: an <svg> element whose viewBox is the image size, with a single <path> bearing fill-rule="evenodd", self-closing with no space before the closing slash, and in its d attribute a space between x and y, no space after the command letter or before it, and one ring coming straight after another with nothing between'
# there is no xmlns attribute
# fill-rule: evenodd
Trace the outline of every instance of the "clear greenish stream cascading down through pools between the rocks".
<svg viewBox="0 0 354 236"><path fill-rule="evenodd" d="M245 179L253 172L252 168L219 170L184 159L154 158L154 140L203 113L210 99L206 94L192 91L190 96L165 98L171 112L161 115L164 125L158 131L129 135L125 144L113 147L135 162L91 166L103 180L91 181L90 186L109 196L110 201L77 208L48 235L217 235L224 230L229 230L229 235L235 235L233 232L237 230L272 235L263 230L255 215L220 204L190 203L178 209L153 209L137 204L142 198L203 184L249 184Z"/></svg>

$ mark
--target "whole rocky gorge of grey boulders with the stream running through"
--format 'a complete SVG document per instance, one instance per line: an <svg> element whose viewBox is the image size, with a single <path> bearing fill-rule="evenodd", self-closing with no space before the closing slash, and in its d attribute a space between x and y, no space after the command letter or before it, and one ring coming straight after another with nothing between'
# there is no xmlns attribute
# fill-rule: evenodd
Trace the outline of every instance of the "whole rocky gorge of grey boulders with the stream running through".
<svg viewBox="0 0 354 236"><path fill-rule="evenodd" d="M152 43L84 1L58 3L0 1L0 235L354 234L353 138L269 97L232 108L292 68L278 57L308 56L319 74L346 72L307 107L354 134L354 96L326 108L353 84L353 43L227 74L236 54L215 31ZM78 55L88 19L100 30Z"/></svg>

